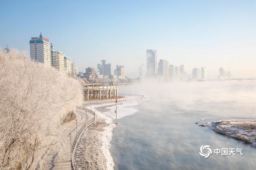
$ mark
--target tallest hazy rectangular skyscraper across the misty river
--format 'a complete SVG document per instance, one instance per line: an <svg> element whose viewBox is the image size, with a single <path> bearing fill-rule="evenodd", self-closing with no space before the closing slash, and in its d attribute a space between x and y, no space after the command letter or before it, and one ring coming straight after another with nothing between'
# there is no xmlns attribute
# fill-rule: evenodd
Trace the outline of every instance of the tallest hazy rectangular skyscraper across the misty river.
<svg viewBox="0 0 256 170"><path fill-rule="evenodd" d="M157 75L157 53L156 50L147 50L147 76Z"/></svg>

